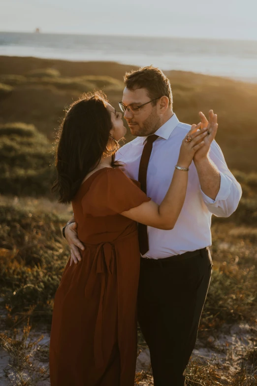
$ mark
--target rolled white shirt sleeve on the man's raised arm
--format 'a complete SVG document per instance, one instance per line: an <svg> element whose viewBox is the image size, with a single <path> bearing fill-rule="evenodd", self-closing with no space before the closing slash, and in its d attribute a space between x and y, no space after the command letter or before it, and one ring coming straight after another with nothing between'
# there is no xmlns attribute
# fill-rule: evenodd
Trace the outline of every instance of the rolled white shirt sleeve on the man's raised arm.
<svg viewBox="0 0 257 386"><path fill-rule="evenodd" d="M213 141L209 157L220 172L220 190L215 200L206 196L201 190L202 198L208 210L217 217L229 217L237 208L242 196L242 188L228 170L224 155L218 143Z"/></svg>

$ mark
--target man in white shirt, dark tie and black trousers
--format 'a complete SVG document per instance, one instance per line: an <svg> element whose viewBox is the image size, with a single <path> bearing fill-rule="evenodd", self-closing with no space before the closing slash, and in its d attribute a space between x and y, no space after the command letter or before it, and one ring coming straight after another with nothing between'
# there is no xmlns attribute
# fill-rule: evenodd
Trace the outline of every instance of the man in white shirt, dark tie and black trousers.
<svg viewBox="0 0 257 386"><path fill-rule="evenodd" d="M173 113L170 82L161 70L146 67L127 73L125 86L120 107L137 138L123 146L116 159L124 162L128 177L138 179L148 197L160 204L190 125L180 123ZM199 115L202 126L207 126L205 116ZM208 127L216 120L210 110ZM188 172L186 200L175 227L146 229L139 224L138 320L150 349L155 386L185 385L212 273L211 216L228 217L242 194L219 145L211 143L211 129L208 134ZM77 262L78 247L83 246L75 228L70 224L64 232Z"/></svg>

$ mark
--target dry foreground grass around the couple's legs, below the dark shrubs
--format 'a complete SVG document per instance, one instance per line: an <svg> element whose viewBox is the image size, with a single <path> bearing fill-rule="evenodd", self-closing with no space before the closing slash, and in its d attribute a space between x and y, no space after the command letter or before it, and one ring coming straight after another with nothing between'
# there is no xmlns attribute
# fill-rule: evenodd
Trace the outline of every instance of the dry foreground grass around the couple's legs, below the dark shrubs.
<svg viewBox="0 0 257 386"><path fill-rule="evenodd" d="M13 385L35 386L48 377L47 365L36 360L36 355L47 357L48 351L33 338L33 331L41 323L48 329L51 325L53 297L68 259L61 227L70 215L70 207L47 199L1 197L0 287L7 305L1 344L11 356ZM216 222L212 233L214 270L198 334L209 350L214 350L209 337L219 334L225 324L257 321L256 228ZM145 346L140 333L139 344ZM256 346L257 337L236 372L232 362L229 370L216 362L192 360L187 385L256 385ZM153 385L151 372L137 374L135 385Z"/></svg>

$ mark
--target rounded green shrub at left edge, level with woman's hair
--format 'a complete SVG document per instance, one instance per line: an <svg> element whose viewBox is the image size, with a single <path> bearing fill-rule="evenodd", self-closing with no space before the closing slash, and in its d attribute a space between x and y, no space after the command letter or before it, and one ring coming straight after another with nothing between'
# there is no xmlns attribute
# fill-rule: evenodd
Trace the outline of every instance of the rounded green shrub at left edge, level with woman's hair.
<svg viewBox="0 0 257 386"><path fill-rule="evenodd" d="M33 125L0 125L0 193L51 194L55 179L52 144Z"/></svg>

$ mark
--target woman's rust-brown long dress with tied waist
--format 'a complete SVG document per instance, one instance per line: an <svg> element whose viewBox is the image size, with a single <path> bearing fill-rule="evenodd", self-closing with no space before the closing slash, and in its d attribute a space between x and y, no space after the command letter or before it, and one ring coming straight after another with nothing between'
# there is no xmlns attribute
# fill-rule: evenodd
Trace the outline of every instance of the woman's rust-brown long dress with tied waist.
<svg viewBox="0 0 257 386"><path fill-rule="evenodd" d="M70 259L55 295L51 386L133 386L140 252L122 211L150 198L120 169L103 168L72 202L82 260Z"/></svg>

